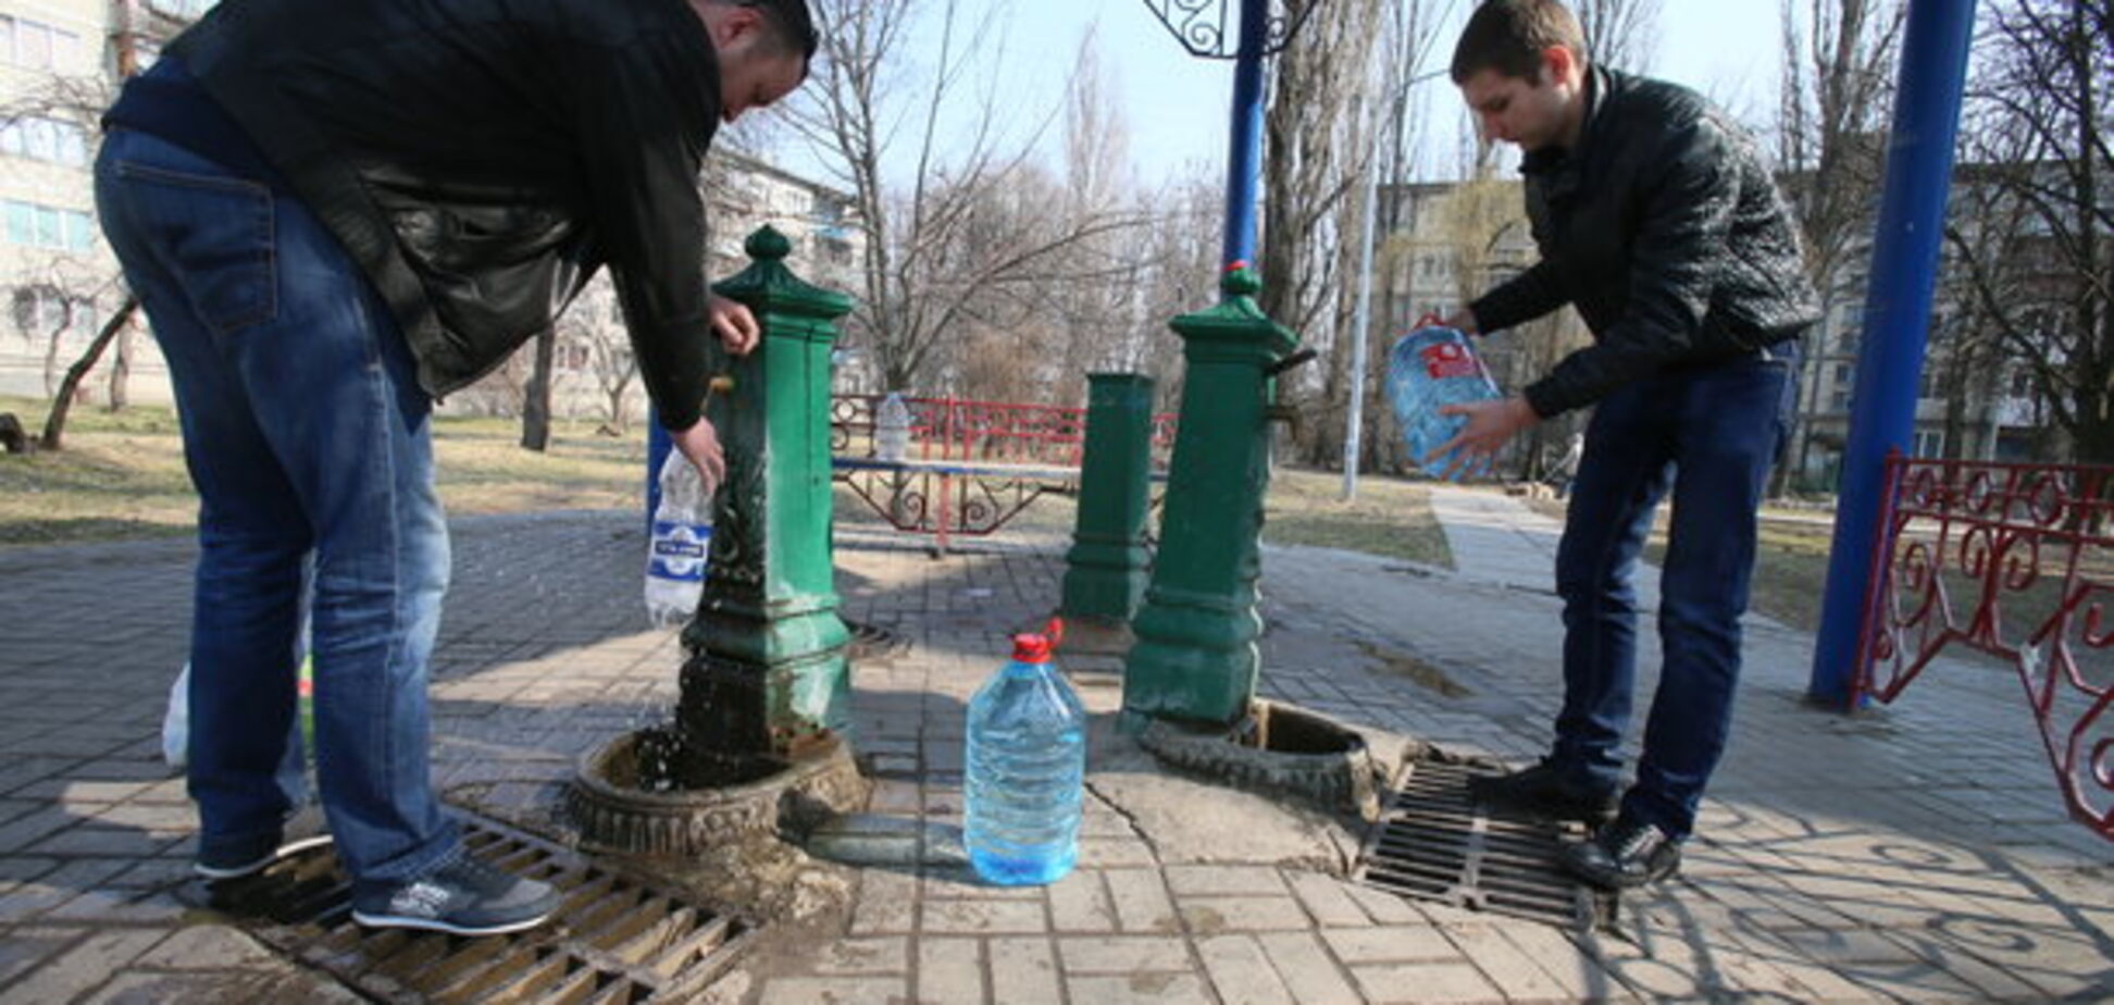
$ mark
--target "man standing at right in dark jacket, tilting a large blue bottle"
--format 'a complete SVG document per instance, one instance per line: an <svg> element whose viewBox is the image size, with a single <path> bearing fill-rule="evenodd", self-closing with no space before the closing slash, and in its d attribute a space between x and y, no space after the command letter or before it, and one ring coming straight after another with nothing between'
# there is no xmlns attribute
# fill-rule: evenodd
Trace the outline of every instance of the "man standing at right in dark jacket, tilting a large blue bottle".
<svg viewBox="0 0 2114 1005"><path fill-rule="evenodd" d="M1467 425L1435 451L1473 463L1535 421L1596 406L1556 554L1556 741L1541 764L1476 791L1550 817L1613 817L1566 848L1566 865L1602 887L1655 882L1679 870L1725 749L1755 514L1816 298L1753 140L1687 89L1590 66L1560 2L1484 2L1452 78L1484 133L1524 150L1541 250L1452 322L1495 332L1573 305L1594 334L1522 394L1457 406ZM1617 800L1636 677L1630 573L1668 489L1664 664L1636 783Z"/></svg>

